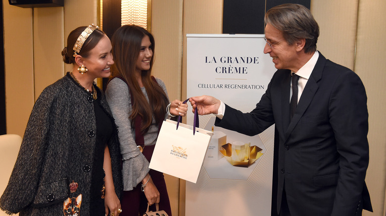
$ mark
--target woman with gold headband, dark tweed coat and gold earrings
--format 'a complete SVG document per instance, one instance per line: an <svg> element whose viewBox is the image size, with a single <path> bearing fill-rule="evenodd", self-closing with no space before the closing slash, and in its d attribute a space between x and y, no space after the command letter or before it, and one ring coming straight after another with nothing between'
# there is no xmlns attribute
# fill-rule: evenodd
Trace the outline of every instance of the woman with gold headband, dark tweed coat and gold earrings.
<svg viewBox="0 0 386 216"><path fill-rule="evenodd" d="M79 27L62 56L73 70L36 101L0 209L20 216L118 216L118 131L94 83L110 75L110 40L97 26Z"/></svg>

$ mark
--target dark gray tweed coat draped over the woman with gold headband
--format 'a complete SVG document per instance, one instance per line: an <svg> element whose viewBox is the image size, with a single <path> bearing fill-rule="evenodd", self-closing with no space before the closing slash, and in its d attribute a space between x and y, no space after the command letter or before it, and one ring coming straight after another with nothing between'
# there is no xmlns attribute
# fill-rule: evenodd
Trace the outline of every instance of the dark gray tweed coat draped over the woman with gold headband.
<svg viewBox="0 0 386 216"><path fill-rule="evenodd" d="M100 107L110 108L97 88ZM122 191L118 131L108 141L115 191ZM92 96L67 73L48 86L32 109L0 209L20 216L62 216L63 201L82 194L81 216L90 215L97 124ZM78 183L70 193L69 184Z"/></svg>

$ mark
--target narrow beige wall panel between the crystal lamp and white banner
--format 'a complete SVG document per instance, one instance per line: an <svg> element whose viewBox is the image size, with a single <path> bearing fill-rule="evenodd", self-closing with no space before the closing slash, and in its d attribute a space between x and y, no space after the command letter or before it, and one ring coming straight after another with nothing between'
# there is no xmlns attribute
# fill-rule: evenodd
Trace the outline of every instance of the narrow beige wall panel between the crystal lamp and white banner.
<svg viewBox="0 0 386 216"><path fill-rule="evenodd" d="M166 85L170 101L181 97L183 0L151 1L151 34L155 40L152 74ZM185 97L185 96L184 96ZM172 214L179 215L180 180L165 174Z"/></svg>

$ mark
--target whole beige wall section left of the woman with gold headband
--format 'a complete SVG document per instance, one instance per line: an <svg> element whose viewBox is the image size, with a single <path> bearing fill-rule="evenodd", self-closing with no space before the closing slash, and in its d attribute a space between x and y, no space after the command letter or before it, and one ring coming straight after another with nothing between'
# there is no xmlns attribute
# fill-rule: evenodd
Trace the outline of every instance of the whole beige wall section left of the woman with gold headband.
<svg viewBox="0 0 386 216"><path fill-rule="evenodd" d="M6 129L23 136L40 93L72 70L64 66L61 51L72 30L97 23L97 1L65 0L64 7L46 8L2 4Z"/></svg>

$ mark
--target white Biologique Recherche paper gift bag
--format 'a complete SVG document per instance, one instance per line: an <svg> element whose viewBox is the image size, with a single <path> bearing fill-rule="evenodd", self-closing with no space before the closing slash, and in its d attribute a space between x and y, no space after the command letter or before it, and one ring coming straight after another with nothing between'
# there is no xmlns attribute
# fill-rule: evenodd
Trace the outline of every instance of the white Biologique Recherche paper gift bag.
<svg viewBox="0 0 386 216"><path fill-rule="evenodd" d="M149 168L195 183L212 135L200 128L193 134L193 126L167 119L159 131Z"/></svg>

